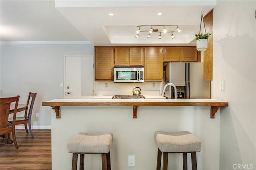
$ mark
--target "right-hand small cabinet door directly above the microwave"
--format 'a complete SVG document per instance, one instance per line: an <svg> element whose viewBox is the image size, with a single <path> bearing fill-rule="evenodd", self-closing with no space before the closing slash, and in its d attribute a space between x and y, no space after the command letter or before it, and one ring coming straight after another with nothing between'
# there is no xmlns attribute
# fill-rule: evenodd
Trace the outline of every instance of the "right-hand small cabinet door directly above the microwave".
<svg viewBox="0 0 256 170"><path fill-rule="evenodd" d="M130 65L143 65L144 47L130 47Z"/></svg>

